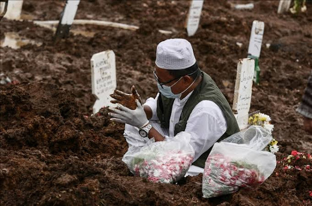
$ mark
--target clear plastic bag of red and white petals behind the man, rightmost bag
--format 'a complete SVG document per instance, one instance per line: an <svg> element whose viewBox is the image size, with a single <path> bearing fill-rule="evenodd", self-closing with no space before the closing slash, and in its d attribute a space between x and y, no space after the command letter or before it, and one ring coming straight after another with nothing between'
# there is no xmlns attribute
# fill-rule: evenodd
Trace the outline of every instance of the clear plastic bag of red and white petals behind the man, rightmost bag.
<svg viewBox="0 0 312 206"><path fill-rule="evenodd" d="M272 136L261 126L250 126L220 143L215 143L206 160L203 197L211 198L238 191L257 189L274 171L276 157L261 151Z"/></svg>

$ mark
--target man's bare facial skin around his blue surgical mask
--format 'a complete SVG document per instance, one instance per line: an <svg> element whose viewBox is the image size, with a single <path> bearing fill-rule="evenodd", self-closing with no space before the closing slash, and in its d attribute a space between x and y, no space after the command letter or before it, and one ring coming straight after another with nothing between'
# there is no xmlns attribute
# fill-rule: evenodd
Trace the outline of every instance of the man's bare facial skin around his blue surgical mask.
<svg viewBox="0 0 312 206"><path fill-rule="evenodd" d="M168 82L165 84L166 86L172 86L174 84L171 87L171 91L174 94L179 94L180 92L184 91L192 82L192 79L189 76L183 76L182 79L176 79L174 76L170 75L168 70L159 68L158 66L155 66L155 71L160 83Z"/></svg>

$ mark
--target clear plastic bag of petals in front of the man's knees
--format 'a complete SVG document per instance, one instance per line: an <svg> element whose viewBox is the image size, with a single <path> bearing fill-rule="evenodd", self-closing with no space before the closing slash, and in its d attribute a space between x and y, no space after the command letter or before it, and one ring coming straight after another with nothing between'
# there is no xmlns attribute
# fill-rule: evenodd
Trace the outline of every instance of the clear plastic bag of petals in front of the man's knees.
<svg viewBox="0 0 312 206"><path fill-rule="evenodd" d="M143 147L129 147L123 162L132 174L150 182L176 183L187 173L194 158L190 135L182 133L185 132L162 142L152 138Z"/></svg>

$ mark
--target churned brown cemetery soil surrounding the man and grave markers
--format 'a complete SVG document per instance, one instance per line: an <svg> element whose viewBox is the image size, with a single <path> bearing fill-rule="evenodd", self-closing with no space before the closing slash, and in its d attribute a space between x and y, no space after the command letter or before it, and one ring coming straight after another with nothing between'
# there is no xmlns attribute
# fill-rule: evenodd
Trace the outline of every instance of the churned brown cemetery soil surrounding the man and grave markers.
<svg viewBox="0 0 312 206"><path fill-rule="evenodd" d="M127 150L124 125L109 121L106 108L91 116L91 56L112 49L117 89L130 93L135 85L144 102L157 93L152 74L157 43L169 38L192 43L199 66L232 104L236 65L247 56L252 21L259 20L265 22L261 82L253 85L250 112L270 115L280 145L277 160L291 150L311 153L312 137L302 130L295 108L312 68L312 4L307 3L307 13L292 16L276 14L278 1L254 2L253 10L235 11L232 1L205 1L193 37L183 28L187 1L81 1L76 19L117 21L140 29L73 25L76 33L56 43L50 29L2 19L1 45L9 33L20 37L19 45L26 39L33 43L0 49L1 73L14 81L0 85L0 204L311 205L312 173L286 172L281 164L256 191L211 199L202 198L202 175L177 185L148 183L131 175L121 161ZM22 17L57 20L63 3L25 1Z"/></svg>

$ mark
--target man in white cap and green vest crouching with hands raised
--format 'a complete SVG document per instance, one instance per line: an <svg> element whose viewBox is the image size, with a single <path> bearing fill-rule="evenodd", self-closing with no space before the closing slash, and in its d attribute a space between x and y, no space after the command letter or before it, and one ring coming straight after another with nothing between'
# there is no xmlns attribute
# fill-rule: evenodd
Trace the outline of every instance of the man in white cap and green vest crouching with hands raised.
<svg viewBox="0 0 312 206"><path fill-rule="evenodd" d="M111 108L111 120L125 123L130 146L143 146L148 139L164 141L184 131L191 136L195 156L187 175L204 171L214 143L239 132L226 98L208 74L197 65L191 44L169 39L158 44L154 77L159 93L131 110ZM118 101L115 101L118 102Z"/></svg>

